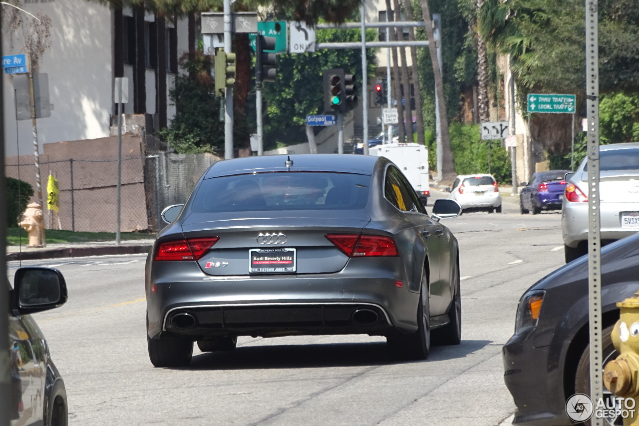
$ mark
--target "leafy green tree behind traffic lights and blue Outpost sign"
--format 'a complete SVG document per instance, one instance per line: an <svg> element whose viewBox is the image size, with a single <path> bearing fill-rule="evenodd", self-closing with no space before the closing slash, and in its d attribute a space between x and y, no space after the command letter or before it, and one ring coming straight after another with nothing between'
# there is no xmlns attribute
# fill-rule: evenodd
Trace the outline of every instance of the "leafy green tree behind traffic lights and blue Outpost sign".
<svg viewBox="0 0 639 426"><path fill-rule="evenodd" d="M376 31L367 31L366 39L374 40ZM317 32L318 43L356 42L360 30L323 29ZM376 68L374 49L367 49L367 75L372 77ZM323 113L323 70L344 68L358 76L361 81L362 59L360 51L353 49L330 49L316 52L279 54L277 79L263 84L263 99L266 101L264 123L265 148L272 149L277 143L291 145L304 138L307 114Z"/></svg>

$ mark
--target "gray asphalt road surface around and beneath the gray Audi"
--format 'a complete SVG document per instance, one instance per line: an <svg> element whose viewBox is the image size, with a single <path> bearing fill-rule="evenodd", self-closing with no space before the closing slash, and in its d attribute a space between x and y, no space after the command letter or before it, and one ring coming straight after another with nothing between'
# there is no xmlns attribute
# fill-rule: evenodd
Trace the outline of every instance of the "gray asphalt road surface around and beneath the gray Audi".
<svg viewBox="0 0 639 426"><path fill-rule="evenodd" d="M57 267L67 280L68 303L35 318L65 379L69 424L509 423L514 404L502 379L502 345L521 294L564 264L560 216L522 216L516 199L505 197L502 214L444 223L461 249L463 342L434 347L419 362L393 362L378 337L244 337L233 352L196 347L188 368L154 368L144 255L22 262Z"/></svg>

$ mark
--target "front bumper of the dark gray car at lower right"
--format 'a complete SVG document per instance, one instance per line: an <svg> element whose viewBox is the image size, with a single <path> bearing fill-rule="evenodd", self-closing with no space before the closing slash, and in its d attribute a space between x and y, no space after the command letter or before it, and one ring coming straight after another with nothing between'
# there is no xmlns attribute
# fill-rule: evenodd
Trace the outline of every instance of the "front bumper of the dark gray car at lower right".
<svg viewBox="0 0 639 426"><path fill-rule="evenodd" d="M512 336L503 349L504 382L517 406L512 424L572 425L565 413L562 371L551 359L560 348L533 347L533 332Z"/></svg>

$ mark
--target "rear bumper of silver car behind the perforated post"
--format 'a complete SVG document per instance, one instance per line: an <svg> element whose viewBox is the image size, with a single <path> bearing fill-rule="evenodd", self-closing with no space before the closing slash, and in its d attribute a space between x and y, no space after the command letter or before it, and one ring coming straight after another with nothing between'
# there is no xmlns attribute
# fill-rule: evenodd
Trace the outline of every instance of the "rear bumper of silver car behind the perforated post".
<svg viewBox="0 0 639 426"><path fill-rule="evenodd" d="M621 227L620 212L637 212L636 203L601 203L599 205L600 236L602 240L620 240L638 230ZM566 246L575 248L588 239L588 203L566 202L562 209L562 235Z"/></svg>

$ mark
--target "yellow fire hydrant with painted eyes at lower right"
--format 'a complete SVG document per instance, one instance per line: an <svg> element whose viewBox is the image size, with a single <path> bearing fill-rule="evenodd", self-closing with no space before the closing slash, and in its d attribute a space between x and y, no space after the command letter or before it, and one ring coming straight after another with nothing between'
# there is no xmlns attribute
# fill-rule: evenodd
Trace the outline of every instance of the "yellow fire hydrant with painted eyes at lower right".
<svg viewBox="0 0 639 426"><path fill-rule="evenodd" d="M625 407L633 406L624 416L624 426L639 426L639 290L617 307L620 318L612 330L612 344L619 356L606 364L603 382L618 397L634 400L634 404L624 402Z"/></svg>

